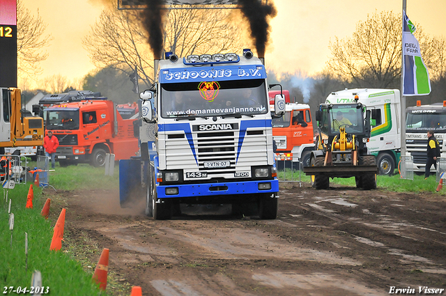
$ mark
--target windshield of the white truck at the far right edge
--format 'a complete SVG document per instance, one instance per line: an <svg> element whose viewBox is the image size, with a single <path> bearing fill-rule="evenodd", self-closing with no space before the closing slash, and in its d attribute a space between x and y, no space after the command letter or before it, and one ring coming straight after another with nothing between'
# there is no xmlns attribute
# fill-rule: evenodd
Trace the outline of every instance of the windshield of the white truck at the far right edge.
<svg viewBox="0 0 446 296"><path fill-rule="evenodd" d="M446 114L413 114L408 113L406 130L446 130Z"/></svg>

